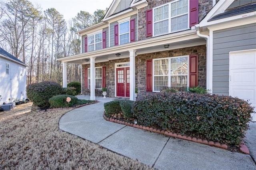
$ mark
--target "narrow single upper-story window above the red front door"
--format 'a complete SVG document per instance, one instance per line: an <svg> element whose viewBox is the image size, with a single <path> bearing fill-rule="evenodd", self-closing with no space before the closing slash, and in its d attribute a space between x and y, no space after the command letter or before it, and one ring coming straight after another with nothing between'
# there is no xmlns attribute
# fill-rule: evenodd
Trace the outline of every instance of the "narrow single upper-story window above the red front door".
<svg viewBox="0 0 256 170"><path fill-rule="evenodd" d="M122 22L119 24L119 40L120 45L129 43L130 42L130 27L129 27L129 21Z"/></svg>

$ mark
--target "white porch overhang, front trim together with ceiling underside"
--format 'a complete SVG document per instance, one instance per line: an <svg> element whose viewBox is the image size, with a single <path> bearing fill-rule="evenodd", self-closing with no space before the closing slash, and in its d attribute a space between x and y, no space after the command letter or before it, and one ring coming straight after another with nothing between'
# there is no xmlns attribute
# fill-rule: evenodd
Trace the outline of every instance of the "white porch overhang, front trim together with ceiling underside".
<svg viewBox="0 0 256 170"><path fill-rule="evenodd" d="M99 63L112 59L127 58L130 55L129 50L132 49L135 49L136 55L139 55L206 44L206 40L204 38L199 38L196 35L196 32L192 30L189 30L188 34L180 34L178 37L172 36L171 38L168 38L168 36L170 35L150 38L147 40L118 45L115 47L108 47L97 51L64 57L58 60L67 63L89 64L90 62L85 62L84 59L95 57L95 63ZM170 45L169 48L164 48L164 45L167 44ZM120 57L116 57L116 53L120 53Z"/></svg>

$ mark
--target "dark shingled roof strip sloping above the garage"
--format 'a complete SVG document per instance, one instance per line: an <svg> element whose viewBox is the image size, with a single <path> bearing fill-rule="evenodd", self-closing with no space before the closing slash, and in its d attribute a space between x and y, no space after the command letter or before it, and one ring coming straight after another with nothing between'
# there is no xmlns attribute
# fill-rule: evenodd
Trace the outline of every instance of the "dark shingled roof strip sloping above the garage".
<svg viewBox="0 0 256 170"><path fill-rule="evenodd" d="M230 16L236 16L236 15L239 15L239 14L245 14L245 13L252 12L252 11L256 11L256 3L248 4L248 5L244 5L244 6L239 6L237 8L232 8L230 10L226 10L225 12L210 18L208 21L227 18L227 17L230 17Z"/></svg>

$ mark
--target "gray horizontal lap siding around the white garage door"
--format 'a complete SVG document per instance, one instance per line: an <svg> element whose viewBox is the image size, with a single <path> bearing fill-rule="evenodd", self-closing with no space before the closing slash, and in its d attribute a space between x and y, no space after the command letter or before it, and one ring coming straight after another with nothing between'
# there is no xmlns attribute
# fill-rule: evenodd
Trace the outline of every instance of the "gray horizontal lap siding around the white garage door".
<svg viewBox="0 0 256 170"><path fill-rule="evenodd" d="M213 32L212 93L229 95L229 52L256 49L256 23Z"/></svg>

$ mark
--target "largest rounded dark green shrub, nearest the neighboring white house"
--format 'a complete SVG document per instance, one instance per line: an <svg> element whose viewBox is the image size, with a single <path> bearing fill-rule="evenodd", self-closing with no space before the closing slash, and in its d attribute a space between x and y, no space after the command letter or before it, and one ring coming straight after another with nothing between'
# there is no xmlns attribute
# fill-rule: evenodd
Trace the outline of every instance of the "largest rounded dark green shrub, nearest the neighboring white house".
<svg viewBox="0 0 256 170"><path fill-rule="evenodd" d="M62 94L62 87L55 82L43 81L27 86L27 97L35 106L49 107L50 104L48 100L60 94Z"/></svg>

